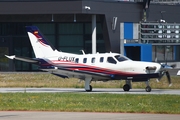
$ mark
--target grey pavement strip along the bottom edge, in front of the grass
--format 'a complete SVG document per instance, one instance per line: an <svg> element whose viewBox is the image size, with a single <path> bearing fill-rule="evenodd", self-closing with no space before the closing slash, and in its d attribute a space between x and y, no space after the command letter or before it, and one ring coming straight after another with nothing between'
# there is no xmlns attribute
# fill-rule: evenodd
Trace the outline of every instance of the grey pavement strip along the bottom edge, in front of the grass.
<svg viewBox="0 0 180 120"><path fill-rule="evenodd" d="M0 120L179 120L177 114L1 111Z"/></svg>

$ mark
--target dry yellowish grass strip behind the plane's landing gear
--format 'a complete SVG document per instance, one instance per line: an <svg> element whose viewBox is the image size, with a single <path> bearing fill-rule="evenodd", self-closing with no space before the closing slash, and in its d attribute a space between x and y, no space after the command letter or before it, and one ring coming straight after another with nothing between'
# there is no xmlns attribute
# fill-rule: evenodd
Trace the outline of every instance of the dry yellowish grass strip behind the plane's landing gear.
<svg viewBox="0 0 180 120"><path fill-rule="evenodd" d="M160 82L155 79L150 81L152 89L179 89L179 76L172 76L171 87L168 86L166 77ZM122 88L125 81L92 82L93 88ZM144 82L132 83L133 88L145 88ZM48 73L1 73L0 87L55 87L55 88L84 88L84 81L78 79L63 79Z"/></svg>

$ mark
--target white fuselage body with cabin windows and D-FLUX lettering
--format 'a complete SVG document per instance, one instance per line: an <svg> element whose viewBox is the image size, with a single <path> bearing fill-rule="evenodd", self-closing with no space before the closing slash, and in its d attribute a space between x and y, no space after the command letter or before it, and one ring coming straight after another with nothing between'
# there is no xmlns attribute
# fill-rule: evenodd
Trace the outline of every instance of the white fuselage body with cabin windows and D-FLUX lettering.
<svg viewBox="0 0 180 120"><path fill-rule="evenodd" d="M122 60L118 60L115 56L122 57ZM52 57L49 58L49 60L57 67L73 66L74 69L80 69L76 66L86 66L92 67L92 69L109 69L111 71L117 71L126 74L157 73L161 69L161 65L158 63L133 61L117 53L97 53L85 55L61 53L58 57ZM147 67L154 67L155 69L148 70L146 69Z"/></svg>

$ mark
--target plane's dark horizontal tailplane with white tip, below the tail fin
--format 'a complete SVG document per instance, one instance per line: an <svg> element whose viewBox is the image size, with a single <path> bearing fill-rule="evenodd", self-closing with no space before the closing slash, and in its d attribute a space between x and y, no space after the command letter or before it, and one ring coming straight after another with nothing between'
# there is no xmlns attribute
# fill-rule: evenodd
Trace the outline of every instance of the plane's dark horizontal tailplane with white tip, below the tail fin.
<svg viewBox="0 0 180 120"><path fill-rule="evenodd" d="M5 55L7 58L9 59L16 59L16 60L20 60L20 61L24 61L24 62L28 62L28 63L38 63L38 60L36 59L32 59L32 58L27 58L27 57L17 57L16 55Z"/></svg>

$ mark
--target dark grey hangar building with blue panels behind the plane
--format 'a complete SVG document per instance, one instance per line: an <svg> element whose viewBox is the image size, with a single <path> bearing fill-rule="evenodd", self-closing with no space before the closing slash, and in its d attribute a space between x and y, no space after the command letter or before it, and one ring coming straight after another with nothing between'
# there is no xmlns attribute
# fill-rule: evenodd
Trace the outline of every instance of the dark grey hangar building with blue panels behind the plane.
<svg viewBox="0 0 180 120"><path fill-rule="evenodd" d="M4 57L34 57L25 30L29 25L38 26L61 51L178 62L179 11L179 0L1 0L0 71L37 70Z"/></svg>

